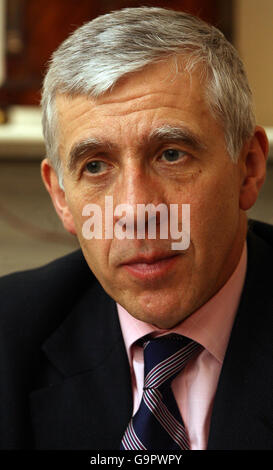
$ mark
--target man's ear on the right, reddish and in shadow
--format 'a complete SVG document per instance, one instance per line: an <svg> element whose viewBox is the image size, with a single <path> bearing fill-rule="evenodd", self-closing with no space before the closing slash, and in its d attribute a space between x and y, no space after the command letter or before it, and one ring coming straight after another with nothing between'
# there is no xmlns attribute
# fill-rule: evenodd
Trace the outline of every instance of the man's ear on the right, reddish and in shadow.
<svg viewBox="0 0 273 470"><path fill-rule="evenodd" d="M239 204L244 211L256 202L266 174L268 139L262 127L257 126L250 141L243 147L240 155L242 181Z"/></svg>

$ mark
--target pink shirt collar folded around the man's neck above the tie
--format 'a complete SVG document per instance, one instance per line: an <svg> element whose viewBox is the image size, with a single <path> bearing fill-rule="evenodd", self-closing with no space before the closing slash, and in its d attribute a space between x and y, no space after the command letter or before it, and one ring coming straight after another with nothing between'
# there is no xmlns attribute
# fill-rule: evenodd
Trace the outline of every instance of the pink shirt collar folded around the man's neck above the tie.
<svg viewBox="0 0 273 470"><path fill-rule="evenodd" d="M247 245L240 261L224 286L202 307L174 328L164 330L130 315L121 305L117 310L131 364L132 345L147 334L178 333L200 343L220 363L223 362L234 318L239 306L247 266Z"/></svg>

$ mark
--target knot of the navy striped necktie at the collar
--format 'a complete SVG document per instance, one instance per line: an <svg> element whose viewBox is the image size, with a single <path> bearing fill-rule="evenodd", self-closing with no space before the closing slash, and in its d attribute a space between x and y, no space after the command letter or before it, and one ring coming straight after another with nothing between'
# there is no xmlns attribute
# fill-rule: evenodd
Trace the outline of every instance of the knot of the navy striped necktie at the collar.
<svg viewBox="0 0 273 470"><path fill-rule="evenodd" d="M200 349L195 341L177 334L144 343L144 390L169 386Z"/></svg>

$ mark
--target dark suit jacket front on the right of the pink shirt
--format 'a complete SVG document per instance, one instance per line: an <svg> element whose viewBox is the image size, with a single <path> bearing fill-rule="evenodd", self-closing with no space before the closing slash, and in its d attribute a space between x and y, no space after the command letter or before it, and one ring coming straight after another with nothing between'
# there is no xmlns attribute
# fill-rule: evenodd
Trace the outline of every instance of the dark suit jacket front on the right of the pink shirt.
<svg viewBox="0 0 273 470"><path fill-rule="evenodd" d="M272 250L248 235L245 288L214 400L208 449L271 449Z"/></svg>

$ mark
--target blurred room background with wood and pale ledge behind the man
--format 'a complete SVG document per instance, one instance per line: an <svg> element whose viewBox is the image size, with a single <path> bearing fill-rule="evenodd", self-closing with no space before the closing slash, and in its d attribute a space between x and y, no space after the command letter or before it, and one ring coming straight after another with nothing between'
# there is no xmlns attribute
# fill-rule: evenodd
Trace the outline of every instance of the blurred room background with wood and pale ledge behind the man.
<svg viewBox="0 0 273 470"><path fill-rule="evenodd" d="M249 216L273 223L272 0L0 0L0 275L78 247L59 222L40 178L40 89L57 46L82 23L129 6L163 6L216 25L239 50L257 121L270 141L268 174Z"/></svg>

